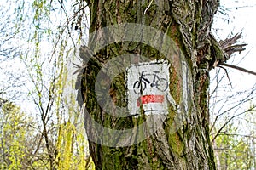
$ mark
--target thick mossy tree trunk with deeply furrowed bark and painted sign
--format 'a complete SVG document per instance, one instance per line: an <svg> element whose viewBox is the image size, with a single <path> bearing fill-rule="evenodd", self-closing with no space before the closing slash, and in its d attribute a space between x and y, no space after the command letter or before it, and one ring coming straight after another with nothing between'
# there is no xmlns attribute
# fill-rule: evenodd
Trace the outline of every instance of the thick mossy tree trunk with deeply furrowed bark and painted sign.
<svg viewBox="0 0 256 170"><path fill-rule="evenodd" d="M79 93L96 169L215 169L207 89L224 58L210 34L218 0L86 3Z"/></svg>

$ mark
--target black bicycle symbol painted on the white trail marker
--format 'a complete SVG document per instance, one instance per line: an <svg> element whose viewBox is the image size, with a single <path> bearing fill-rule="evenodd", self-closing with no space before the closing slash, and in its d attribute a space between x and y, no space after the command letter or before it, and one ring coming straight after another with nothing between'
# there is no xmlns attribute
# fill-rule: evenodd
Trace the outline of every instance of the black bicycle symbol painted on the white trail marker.
<svg viewBox="0 0 256 170"><path fill-rule="evenodd" d="M142 71L140 77L136 82L133 84L133 90L135 94L142 94L142 92L147 88L149 84L152 88L157 88L160 91L164 92L168 88L168 81L165 78L160 78L157 74L160 71L153 71L154 73L145 73L147 71ZM153 76L153 82L148 80L148 76Z"/></svg>

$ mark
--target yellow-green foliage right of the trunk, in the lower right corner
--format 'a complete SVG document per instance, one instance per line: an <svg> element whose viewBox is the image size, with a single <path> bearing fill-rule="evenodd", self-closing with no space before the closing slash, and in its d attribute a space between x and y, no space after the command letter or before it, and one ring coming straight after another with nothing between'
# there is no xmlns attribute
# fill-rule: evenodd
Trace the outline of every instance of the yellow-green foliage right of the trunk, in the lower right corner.
<svg viewBox="0 0 256 170"><path fill-rule="evenodd" d="M251 138L240 135L233 125L214 141L215 157L221 169L251 169L254 158Z"/></svg>

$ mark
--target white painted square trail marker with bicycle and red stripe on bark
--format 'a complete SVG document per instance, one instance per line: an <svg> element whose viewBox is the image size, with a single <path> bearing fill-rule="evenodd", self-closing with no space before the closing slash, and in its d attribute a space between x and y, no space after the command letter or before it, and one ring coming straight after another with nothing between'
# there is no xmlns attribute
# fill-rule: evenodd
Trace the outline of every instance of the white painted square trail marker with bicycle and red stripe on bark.
<svg viewBox="0 0 256 170"><path fill-rule="evenodd" d="M167 100L176 106L169 89L170 65L164 59L131 65L126 69L128 109L139 115L168 114Z"/></svg>

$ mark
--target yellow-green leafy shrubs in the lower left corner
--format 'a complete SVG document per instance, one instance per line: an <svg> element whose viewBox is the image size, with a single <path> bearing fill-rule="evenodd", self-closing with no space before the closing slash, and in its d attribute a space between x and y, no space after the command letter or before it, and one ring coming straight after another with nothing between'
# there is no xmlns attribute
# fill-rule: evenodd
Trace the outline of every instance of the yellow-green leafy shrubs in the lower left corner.
<svg viewBox="0 0 256 170"><path fill-rule="evenodd" d="M38 154L38 133L32 117L20 107L1 99L0 139L1 169L44 167Z"/></svg>

